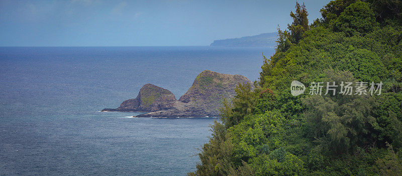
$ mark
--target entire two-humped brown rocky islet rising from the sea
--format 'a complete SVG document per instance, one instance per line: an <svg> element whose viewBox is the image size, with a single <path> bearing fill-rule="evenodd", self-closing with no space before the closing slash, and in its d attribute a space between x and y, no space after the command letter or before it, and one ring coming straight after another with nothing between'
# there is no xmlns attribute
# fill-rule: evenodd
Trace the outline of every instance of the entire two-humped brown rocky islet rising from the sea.
<svg viewBox="0 0 402 176"><path fill-rule="evenodd" d="M178 100L167 89L145 84L135 99L123 101L116 109L102 111L148 112L138 117L218 116L223 98L233 98L238 83L251 81L239 74L222 74L210 70L199 73L191 87Z"/></svg>

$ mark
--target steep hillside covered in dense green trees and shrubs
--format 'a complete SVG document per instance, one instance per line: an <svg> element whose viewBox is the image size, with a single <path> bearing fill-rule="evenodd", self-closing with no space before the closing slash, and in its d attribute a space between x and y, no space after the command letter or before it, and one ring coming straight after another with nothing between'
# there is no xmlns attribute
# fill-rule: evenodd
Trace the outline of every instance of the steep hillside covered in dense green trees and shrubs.
<svg viewBox="0 0 402 176"><path fill-rule="evenodd" d="M308 25L296 3L255 88L225 101L189 175L402 175L402 1L333 0L321 13ZM290 94L292 80L304 94ZM310 95L313 81L383 86Z"/></svg>

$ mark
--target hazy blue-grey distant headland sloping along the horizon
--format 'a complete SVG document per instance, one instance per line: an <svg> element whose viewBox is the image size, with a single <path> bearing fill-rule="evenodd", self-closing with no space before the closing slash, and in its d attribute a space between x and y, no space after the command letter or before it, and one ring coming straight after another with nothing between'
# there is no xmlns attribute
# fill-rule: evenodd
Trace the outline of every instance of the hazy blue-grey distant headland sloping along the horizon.
<svg viewBox="0 0 402 176"><path fill-rule="evenodd" d="M275 47L278 32L261 33L253 36L243 36L241 38L229 38L214 40L211 46L240 46L240 47Z"/></svg>

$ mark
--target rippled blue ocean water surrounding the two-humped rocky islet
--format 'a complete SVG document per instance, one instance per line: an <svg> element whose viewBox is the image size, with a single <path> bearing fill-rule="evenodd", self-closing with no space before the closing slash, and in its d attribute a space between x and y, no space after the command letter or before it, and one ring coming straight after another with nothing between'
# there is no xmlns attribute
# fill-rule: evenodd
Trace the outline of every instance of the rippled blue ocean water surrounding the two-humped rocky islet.
<svg viewBox="0 0 402 176"><path fill-rule="evenodd" d="M0 47L0 175L185 175L219 118L133 118L153 83L179 98L205 70L258 79L273 48Z"/></svg>

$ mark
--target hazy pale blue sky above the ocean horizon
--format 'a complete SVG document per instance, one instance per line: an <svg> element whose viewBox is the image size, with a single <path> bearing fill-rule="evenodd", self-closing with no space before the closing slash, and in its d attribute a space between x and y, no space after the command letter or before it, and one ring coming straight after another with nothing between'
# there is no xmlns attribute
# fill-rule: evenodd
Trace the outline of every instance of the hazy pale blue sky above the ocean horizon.
<svg viewBox="0 0 402 176"><path fill-rule="evenodd" d="M329 0L305 3L309 20ZM209 45L277 31L294 0L0 0L0 46Z"/></svg>

